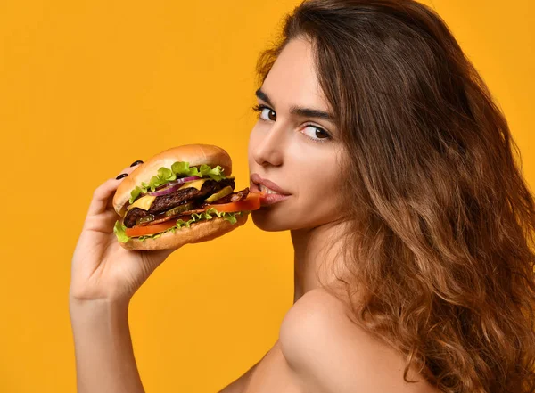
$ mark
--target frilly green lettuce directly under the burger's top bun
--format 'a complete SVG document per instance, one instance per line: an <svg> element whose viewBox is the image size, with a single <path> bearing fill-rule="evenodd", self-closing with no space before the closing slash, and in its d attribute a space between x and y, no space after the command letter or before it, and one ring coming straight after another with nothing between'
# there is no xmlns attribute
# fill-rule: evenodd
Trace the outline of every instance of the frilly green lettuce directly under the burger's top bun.
<svg viewBox="0 0 535 393"><path fill-rule="evenodd" d="M130 192L129 202L134 203L140 194L148 192L149 190L154 191L156 190L156 187L177 180L177 176L210 177L216 181L226 178L226 176L223 175L223 168L219 166L210 168L210 165L202 164L199 168L190 168L189 162L177 161L171 165L171 168L161 167L158 169L158 174L152 176L148 184L142 182L141 185L137 185L136 188Z"/></svg>

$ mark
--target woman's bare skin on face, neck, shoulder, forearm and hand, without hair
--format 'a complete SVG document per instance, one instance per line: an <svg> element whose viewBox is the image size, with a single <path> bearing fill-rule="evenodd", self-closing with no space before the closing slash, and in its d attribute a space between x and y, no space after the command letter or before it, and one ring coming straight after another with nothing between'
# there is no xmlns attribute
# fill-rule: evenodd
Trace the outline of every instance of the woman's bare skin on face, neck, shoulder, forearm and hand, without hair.
<svg viewBox="0 0 535 393"><path fill-rule="evenodd" d="M334 288L330 267L338 266L337 251L343 246L334 241L344 225L336 192L343 181L338 165L343 150L333 123L291 112L295 105L330 110L308 42L294 40L284 48L261 91L259 104L268 109L259 113L251 131L250 171L275 182L288 197L254 211L252 219L260 229L292 233L294 304L273 348L219 393L436 392L424 381L403 381L403 356L351 323L347 307L322 288ZM144 392L128 329L128 303L172 252L119 247L112 233L111 197L120 182L111 179L95 191L72 259L78 393ZM421 379L415 370L408 377Z"/></svg>

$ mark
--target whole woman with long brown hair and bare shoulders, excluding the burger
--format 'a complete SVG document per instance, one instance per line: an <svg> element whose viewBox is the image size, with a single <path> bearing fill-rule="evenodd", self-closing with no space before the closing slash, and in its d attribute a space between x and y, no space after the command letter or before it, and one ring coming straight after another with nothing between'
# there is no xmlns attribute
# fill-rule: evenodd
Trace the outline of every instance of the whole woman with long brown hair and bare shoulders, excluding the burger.
<svg viewBox="0 0 535 393"><path fill-rule="evenodd" d="M305 1L258 70L250 171L287 196L252 219L291 231L295 303L221 392L535 391L535 205L440 17L412 0ZM84 393L144 391L128 301L170 253L118 246L120 182L96 189L72 260Z"/></svg>

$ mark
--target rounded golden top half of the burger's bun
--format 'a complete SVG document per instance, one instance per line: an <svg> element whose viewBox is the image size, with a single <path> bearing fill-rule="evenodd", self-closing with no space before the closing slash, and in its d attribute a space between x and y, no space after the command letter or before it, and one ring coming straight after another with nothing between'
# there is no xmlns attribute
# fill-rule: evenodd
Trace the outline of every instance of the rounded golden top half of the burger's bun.
<svg viewBox="0 0 535 393"><path fill-rule="evenodd" d="M113 209L122 216L123 208L130 199L130 192L141 185L142 182L149 183L152 176L158 174L161 167L171 168L177 161L189 162L190 167L197 167L202 164L210 165L211 168L220 166L223 174L232 174L232 160L228 153L218 146L212 144L185 144L183 146L172 147L166 151L161 151L143 164L137 166L122 182L120 182L115 195L113 196Z"/></svg>

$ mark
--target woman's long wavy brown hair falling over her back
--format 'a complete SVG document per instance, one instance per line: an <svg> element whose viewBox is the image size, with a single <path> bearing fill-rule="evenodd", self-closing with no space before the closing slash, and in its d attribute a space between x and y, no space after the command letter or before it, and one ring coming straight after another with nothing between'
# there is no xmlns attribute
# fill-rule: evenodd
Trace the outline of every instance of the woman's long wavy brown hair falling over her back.
<svg viewBox="0 0 535 393"><path fill-rule="evenodd" d="M406 356L405 381L416 365L444 392L535 391L535 204L444 20L412 0L304 1L260 85L293 38L313 47L349 157L339 279L355 322Z"/></svg>

